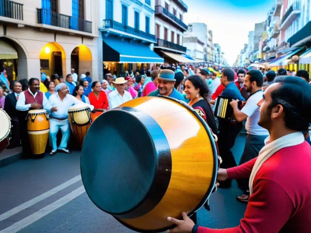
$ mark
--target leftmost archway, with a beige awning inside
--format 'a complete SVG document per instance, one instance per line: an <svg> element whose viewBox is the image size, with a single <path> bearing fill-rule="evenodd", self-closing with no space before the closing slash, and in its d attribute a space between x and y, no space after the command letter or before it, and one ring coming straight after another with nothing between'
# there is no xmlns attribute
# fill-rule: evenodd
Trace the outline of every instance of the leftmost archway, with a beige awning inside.
<svg viewBox="0 0 311 233"><path fill-rule="evenodd" d="M0 66L10 83L27 79L27 55L21 45L7 37L0 37Z"/></svg>

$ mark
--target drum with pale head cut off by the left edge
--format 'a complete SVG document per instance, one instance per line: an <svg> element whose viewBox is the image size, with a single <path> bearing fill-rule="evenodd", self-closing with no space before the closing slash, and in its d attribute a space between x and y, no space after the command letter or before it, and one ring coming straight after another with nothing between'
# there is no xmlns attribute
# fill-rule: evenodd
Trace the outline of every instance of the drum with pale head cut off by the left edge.
<svg viewBox="0 0 311 233"><path fill-rule="evenodd" d="M11 118L0 108L0 153L9 145L11 133Z"/></svg>

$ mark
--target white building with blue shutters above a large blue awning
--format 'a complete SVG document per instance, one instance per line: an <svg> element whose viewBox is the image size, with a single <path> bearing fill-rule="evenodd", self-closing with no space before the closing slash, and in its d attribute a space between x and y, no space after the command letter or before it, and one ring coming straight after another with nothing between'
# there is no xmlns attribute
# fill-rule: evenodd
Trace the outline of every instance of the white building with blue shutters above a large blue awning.
<svg viewBox="0 0 311 233"><path fill-rule="evenodd" d="M125 75L126 71L147 71L151 64L163 64L154 51L154 0L102 0L99 6L100 37L98 59L101 74Z"/></svg>

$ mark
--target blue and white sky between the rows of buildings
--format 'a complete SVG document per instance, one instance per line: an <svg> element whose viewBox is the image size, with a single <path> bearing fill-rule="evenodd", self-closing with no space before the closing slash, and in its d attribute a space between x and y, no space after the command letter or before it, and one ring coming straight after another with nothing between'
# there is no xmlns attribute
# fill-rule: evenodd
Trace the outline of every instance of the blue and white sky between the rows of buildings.
<svg viewBox="0 0 311 233"><path fill-rule="evenodd" d="M275 0L183 0L188 6L184 23L200 22L213 31L213 43L218 43L230 66L236 60L244 44L248 43L248 31L255 23L267 19Z"/></svg>

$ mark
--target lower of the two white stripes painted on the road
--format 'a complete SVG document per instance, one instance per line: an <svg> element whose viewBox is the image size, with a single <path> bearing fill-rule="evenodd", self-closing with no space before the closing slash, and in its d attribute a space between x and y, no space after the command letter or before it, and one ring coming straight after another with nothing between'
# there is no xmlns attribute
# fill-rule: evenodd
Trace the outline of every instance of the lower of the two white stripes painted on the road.
<svg viewBox="0 0 311 233"><path fill-rule="evenodd" d="M44 217L50 212L53 212L59 207L62 207L66 203L70 202L72 199L75 199L79 195L83 194L84 192L85 189L84 186L82 185L81 187L77 188L76 190L72 191L66 196L63 196L62 198L53 202L52 204L38 210L37 212L29 215L28 217L22 219L21 221L14 223L12 226L9 226L6 229L0 231L0 233L16 233L17 231L20 231L26 226L29 226L31 223L34 223L35 221L39 220L40 218Z"/></svg>

